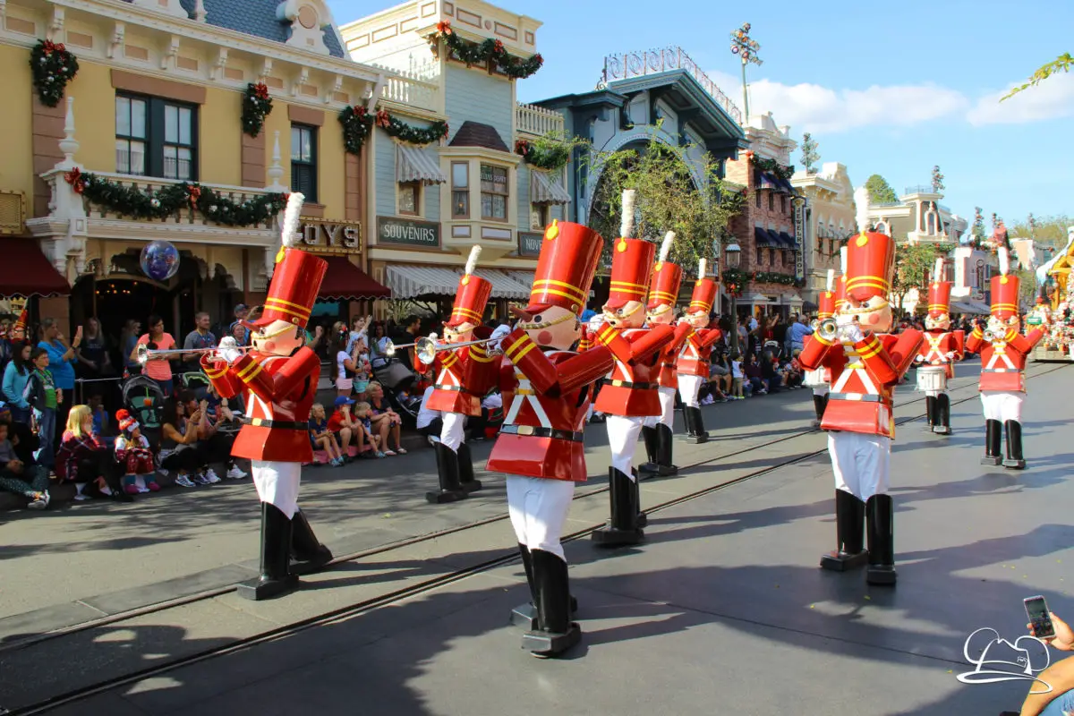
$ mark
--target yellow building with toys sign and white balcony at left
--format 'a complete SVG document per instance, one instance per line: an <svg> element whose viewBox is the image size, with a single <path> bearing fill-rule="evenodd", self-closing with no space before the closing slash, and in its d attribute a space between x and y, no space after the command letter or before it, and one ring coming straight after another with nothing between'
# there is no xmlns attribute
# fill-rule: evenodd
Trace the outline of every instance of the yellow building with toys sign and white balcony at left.
<svg viewBox="0 0 1074 716"><path fill-rule="evenodd" d="M337 115L408 79L348 57L323 0L21 0L2 15L0 230L13 236L0 240L62 277L75 324L99 316L114 335L159 313L178 338L199 310L230 322L235 304L264 295L279 246L272 200L293 190L307 195L306 248L339 257L326 283L361 283L366 179ZM30 71L45 41L78 64L56 106ZM251 136L244 106L258 85L272 109ZM171 278L140 267L154 240L179 251ZM26 253L34 243L44 261ZM0 265L0 295L26 293L17 274ZM68 308L43 297L38 313Z"/></svg>

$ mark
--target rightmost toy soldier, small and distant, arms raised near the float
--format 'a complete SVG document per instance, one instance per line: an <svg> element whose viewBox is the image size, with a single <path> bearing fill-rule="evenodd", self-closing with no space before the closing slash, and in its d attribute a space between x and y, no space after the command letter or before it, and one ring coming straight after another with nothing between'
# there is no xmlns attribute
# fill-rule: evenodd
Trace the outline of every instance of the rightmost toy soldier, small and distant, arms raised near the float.
<svg viewBox="0 0 1074 716"><path fill-rule="evenodd" d="M1007 276L1010 260L999 248L1000 276L992 276L992 305L988 327L973 328L966 348L981 353L981 405L985 412L985 456L982 465L1015 470L1026 467L1021 453L1021 404L1026 398L1026 356L1044 337L1040 328L1018 333L1018 277ZM1000 438L1006 428L1006 458L1000 454Z"/></svg>

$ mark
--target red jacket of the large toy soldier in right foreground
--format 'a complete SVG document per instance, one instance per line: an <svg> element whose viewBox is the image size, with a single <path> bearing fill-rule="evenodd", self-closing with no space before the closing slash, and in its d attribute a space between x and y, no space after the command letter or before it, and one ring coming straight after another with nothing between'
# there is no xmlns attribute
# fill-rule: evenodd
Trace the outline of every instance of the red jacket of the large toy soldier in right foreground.
<svg viewBox="0 0 1074 716"><path fill-rule="evenodd" d="M921 345L920 331L867 335L853 346L813 334L798 356L807 370L831 370L821 429L895 437L891 397Z"/></svg>

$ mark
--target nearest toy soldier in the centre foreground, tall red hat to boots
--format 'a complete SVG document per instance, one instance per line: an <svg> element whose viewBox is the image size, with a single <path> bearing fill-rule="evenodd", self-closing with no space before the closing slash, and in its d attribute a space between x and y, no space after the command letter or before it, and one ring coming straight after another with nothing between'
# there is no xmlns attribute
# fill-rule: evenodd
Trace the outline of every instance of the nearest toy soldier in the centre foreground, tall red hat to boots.
<svg viewBox="0 0 1074 716"><path fill-rule="evenodd" d="M545 230L529 305L500 342L500 388L510 406L489 456L507 473L507 506L526 569L537 627L522 638L535 656L554 656L581 639L571 623L567 561L560 537L575 483L584 482L582 428L590 386L612 369L611 351L571 351L604 239L581 224L553 221ZM509 370L509 372L508 372Z"/></svg>

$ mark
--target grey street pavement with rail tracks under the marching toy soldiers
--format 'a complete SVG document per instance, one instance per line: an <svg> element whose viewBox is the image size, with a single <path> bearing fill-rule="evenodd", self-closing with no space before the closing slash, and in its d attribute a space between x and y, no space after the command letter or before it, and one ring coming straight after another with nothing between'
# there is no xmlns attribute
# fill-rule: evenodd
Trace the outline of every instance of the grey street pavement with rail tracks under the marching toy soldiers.
<svg viewBox="0 0 1074 716"><path fill-rule="evenodd" d="M345 561L305 578L301 590L277 600L247 602L229 593L21 647L33 628L9 631L0 641L0 706L19 713L58 699L48 713L64 716L995 716L1017 710L1029 682L971 686L956 676L973 669L962 654L971 632L991 627L1012 643L1025 633L1024 598L1043 594L1060 616L1074 615L1064 582L1065 566L1074 560L1074 487L1068 482L1074 369L1031 366L1024 411L1029 467L1018 472L978 464L983 419L968 388L973 367L960 368L953 437L924 433L921 421L912 420L923 404L910 403L919 394L910 385L900 389L896 420L910 422L899 427L892 455L895 588L870 587L861 572L817 568L821 553L834 546L833 486L826 436L801 433L810 393L796 391L707 411L722 439L677 443L677 462L694 467L642 483L644 509L666 506L650 513L644 544L594 547L585 532L607 516L607 495L575 501L566 531L580 538L565 547L584 635L567 658L534 659L519 647L522 631L507 624L510 608L528 595L521 566L510 560L513 535L500 520ZM594 476L607 462L595 450L598 443L590 444ZM337 554L346 550L338 544L359 539L362 529L417 535L446 529L449 520L458 525L502 516L502 479L483 476L491 494L483 501L426 510L415 491L432 484L431 468L419 462L427 456L396 459L424 474L384 482L363 473L325 478L329 484L318 476L304 484L304 495L313 493L304 501L315 527ZM398 469L387 461L381 466ZM372 472L366 463L359 467ZM716 488L721 484L726 486ZM393 486L411 491L387 508L404 513L380 517ZM146 541L135 539L128 550L120 537L108 536L116 544L105 552L118 558L101 564L111 565L104 568L120 581L134 579L128 571L182 572L148 565L137 554L169 540L186 551L218 550L218 561L253 554L251 520L198 517L209 497L232 499L229 492L237 494L230 509L241 512L238 498L251 499L249 489L208 492L179 494L171 506L163 498L155 513L159 527L145 521L129 532L122 526L151 500L108 515L113 522L105 524L117 525L121 535L139 531ZM186 509L189 502L200 509ZM364 516L348 517L348 511ZM66 516L42 522L61 524ZM105 521L103 514L97 518ZM229 518L246 524L251 535L236 535ZM182 520L194 520L197 527ZM394 524L382 527L378 520ZM416 524L404 528L406 521ZM19 553L20 531L32 531L35 523L14 520L0 531L6 543L12 534L16 538L15 546L5 547L4 601L9 591L19 599L20 579L27 578L50 580L62 594L39 594L60 604L76 588L68 583L95 569L69 574L62 565L75 565L79 556L92 565L102 547L79 551L78 540L102 538L74 531L48 541L66 541L72 554L23 540L30 546ZM350 537L344 527L353 530ZM386 537L378 536L381 544ZM40 573L45 567L18 566L63 555L49 574ZM102 575L93 579L105 583ZM334 616L318 618L325 614ZM299 624L305 628L293 628ZM242 646L246 640L257 641ZM229 651L195 658L222 648ZM177 666L164 669L172 662ZM106 683L151 669L161 670L112 688ZM85 698L64 697L79 689Z"/></svg>

